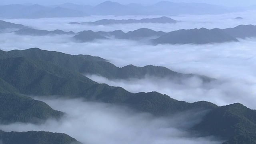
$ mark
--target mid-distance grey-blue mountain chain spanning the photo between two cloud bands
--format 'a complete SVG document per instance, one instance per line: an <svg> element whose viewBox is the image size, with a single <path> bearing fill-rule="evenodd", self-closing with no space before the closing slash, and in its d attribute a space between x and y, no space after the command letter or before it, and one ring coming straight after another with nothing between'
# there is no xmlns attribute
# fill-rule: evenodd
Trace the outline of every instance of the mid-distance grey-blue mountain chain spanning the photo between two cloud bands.
<svg viewBox="0 0 256 144"><path fill-rule="evenodd" d="M226 29L190 29L190 30L176 30L172 32L154 31L148 28L140 28L138 30L129 31L127 33L122 30L115 30L113 32L93 32L92 30L85 30L75 34L74 32L64 32L62 30L36 30L34 28L27 28L20 24L13 24L10 22L0 21L1 28L6 30L8 28L16 28L19 30L13 31L19 35L31 36L46 36L56 34L73 35L72 39L76 42L91 42L102 39L130 39L130 40L148 40L152 44L210 44L223 42L238 42L237 38L251 38L256 37L256 26L254 25L239 25L234 28ZM75 35L75 36L74 36Z"/></svg>

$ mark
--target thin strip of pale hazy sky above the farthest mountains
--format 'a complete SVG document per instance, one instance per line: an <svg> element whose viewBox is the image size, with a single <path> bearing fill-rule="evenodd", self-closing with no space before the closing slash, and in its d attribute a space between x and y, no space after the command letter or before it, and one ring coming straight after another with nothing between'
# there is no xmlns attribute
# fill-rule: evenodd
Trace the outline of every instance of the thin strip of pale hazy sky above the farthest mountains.
<svg viewBox="0 0 256 144"><path fill-rule="evenodd" d="M43 5L48 4L62 4L66 2L72 2L76 4L91 4L96 5L106 0L1 0L0 4L22 4L22 3L38 3ZM140 3L140 4L152 4L161 0L111 0L113 2L119 2L122 4L128 3ZM255 0L169 0L171 2L204 2L208 4L218 4L223 6L249 6L256 4Z"/></svg>

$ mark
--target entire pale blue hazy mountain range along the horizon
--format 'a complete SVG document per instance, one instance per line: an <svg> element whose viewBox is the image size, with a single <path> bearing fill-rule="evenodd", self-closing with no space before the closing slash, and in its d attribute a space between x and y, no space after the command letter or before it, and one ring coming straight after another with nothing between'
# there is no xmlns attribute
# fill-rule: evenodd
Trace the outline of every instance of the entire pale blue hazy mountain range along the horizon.
<svg viewBox="0 0 256 144"><path fill-rule="evenodd" d="M224 14L235 11L237 11L235 8L205 3L173 3L161 1L150 6L142 6L140 4L122 5L117 2L106 1L96 6L72 3L53 6L41 6L39 4L3 5L0 6L0 18L84 17L90 15Z"/></svg>

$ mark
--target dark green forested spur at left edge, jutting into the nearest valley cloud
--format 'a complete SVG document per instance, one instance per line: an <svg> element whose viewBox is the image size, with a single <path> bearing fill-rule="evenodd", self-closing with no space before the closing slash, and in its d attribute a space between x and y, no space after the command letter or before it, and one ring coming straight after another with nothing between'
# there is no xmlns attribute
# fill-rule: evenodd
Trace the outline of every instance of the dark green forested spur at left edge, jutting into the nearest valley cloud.
<svg viewBox="0 0 256 144"><path fill-rule="evenodd" d="M0 123L43 122L60 118L64 113L53 110L46 103L15 93L0 93Z"/></svg>

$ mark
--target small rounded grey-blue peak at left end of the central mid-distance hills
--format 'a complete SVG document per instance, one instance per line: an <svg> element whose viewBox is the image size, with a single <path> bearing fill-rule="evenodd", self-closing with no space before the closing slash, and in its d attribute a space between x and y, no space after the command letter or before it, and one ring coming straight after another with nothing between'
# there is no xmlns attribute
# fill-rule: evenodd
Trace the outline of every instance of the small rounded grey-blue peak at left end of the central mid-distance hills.
<svg viewBox="0 0 256 144"><path fill-rule="evenodd" d="M91 42L93 40L108 39L104 36L97 34L96 32L93 32L92 30L85 30L85 31L79 32L76 36L73 36L73 38L78 42Z"/></svg>

